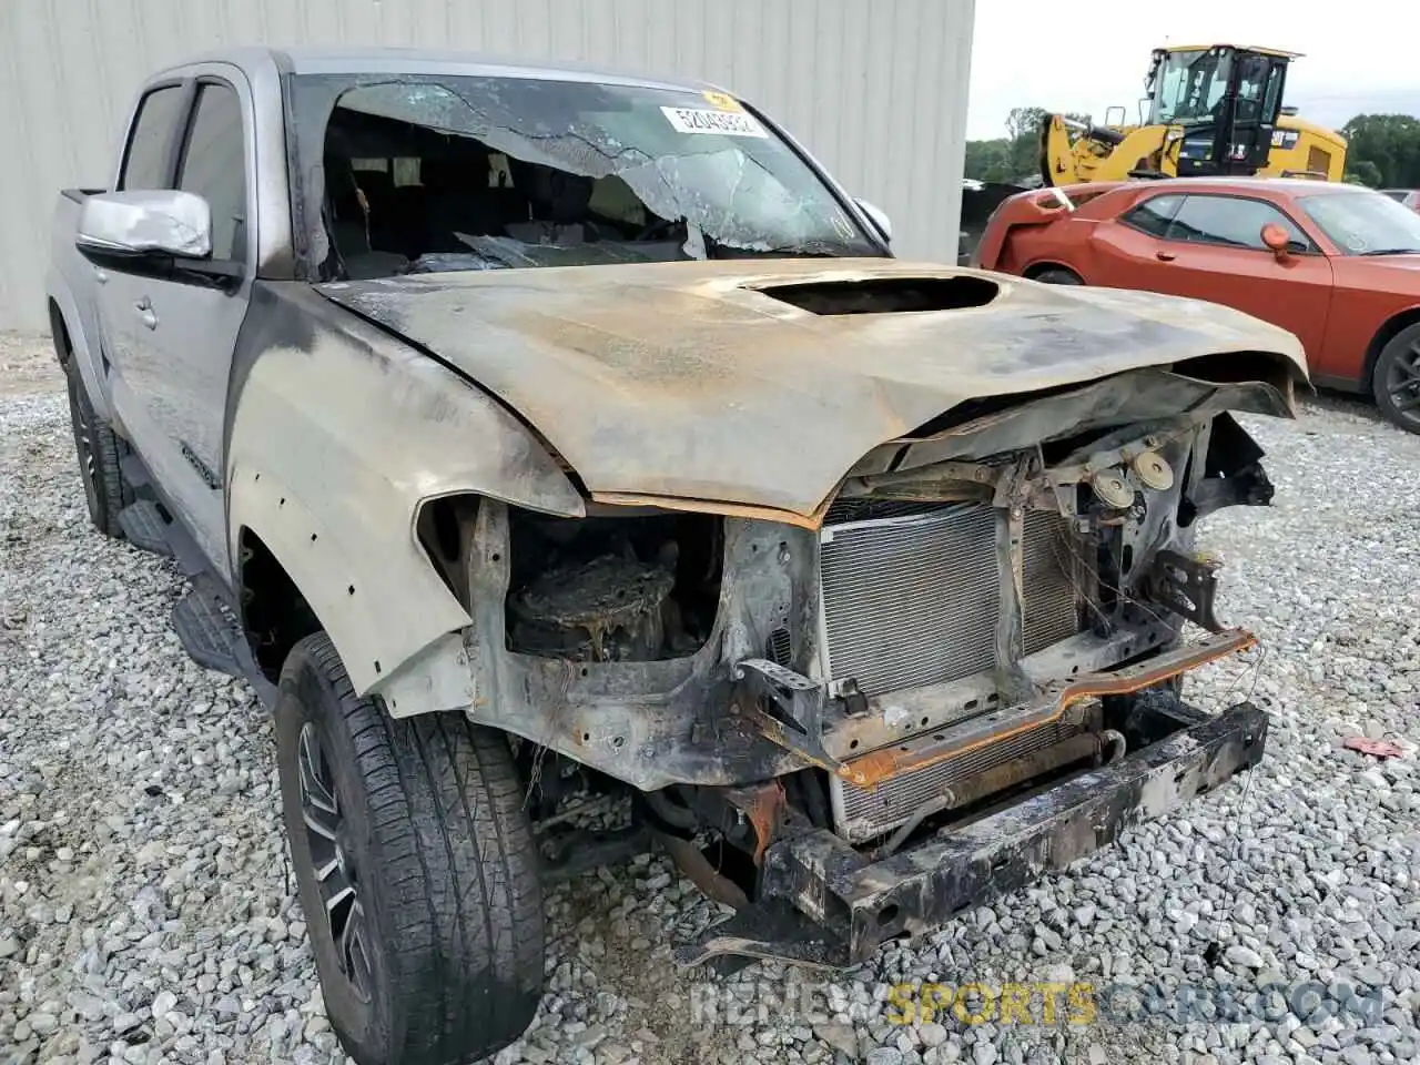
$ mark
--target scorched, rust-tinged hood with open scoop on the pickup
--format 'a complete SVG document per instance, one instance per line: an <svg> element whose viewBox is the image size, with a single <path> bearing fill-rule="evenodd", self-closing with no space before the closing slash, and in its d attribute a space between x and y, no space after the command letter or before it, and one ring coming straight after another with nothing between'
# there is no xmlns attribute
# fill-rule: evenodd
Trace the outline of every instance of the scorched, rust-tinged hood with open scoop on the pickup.
<svg viewBox="0 0 1420 1065"><path fill-rule="evenodd" d="M869 452L951 412L998 423L1012 400L1152 369L1149 410L1108 390L1116 423L1169 413L1157 378L1170 371L1173 413L1224 390L1221 406L1288 415L1305 379L1291 334L1223 307L897 260L490 270L320 291L496 395L595 496L797 515ZM1068 429L1037 423L1037 439L995 436L1027 446Z"/></svg>

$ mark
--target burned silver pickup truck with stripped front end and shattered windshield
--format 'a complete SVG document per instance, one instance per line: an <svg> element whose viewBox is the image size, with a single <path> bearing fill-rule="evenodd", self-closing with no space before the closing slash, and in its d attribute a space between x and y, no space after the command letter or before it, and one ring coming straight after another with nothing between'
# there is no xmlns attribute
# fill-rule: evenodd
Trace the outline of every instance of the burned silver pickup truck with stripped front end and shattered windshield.
<svg viewBox="0 0 1420 1065"><path fill-rule="evenodd" d="M737 910L684 961L852 964L1261 757L1179 680L1296 341L889 240L719 89L409 53L165 71L61 197L89 513L273 706L356 1061L515 1039L646 834Z"/></svg>

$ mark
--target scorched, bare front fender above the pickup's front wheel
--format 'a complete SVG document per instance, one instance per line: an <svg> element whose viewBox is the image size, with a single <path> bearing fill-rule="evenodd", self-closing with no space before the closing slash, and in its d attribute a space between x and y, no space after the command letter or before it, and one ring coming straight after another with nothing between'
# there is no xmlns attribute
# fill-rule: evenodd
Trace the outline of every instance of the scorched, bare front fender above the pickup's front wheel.
<svg viewBox="0 0 1420 1065"><path fill-rule="evenodd" d="M271 551L365 693L470 623L415 531L425 500L457 493L581 517L548 452L496 400L435 359L271 283L233 361L227 531ZM234 582L239 574L233 574Z"/></svg>

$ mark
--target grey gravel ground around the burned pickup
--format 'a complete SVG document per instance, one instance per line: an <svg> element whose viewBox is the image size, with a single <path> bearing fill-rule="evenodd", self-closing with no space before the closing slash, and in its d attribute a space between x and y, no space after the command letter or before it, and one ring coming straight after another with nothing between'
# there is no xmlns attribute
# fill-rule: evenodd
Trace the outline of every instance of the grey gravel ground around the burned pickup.
<svg viewBox="0 0 1420 1065"><path fill-rule="evenodd" d="M342 1061L271 727L183 655L173 569L89 527L47 342L0 341L0 1058ZM679 971L667 944L717 907L660 858L599 870L552 893L547 1001L500 1062L1416 1061L1420 437L1340 402L1250 427L1277 506L1206 540L1223 616L1265 653L1191 689L1275 716L1245 784L831 980ZM1355 734L1404 753L1343 750ZM1031 1024L889 1022L892 985L968 981L1091 984L1096 1018L1062 998L1044 1022L1037 998Z"/></svg>

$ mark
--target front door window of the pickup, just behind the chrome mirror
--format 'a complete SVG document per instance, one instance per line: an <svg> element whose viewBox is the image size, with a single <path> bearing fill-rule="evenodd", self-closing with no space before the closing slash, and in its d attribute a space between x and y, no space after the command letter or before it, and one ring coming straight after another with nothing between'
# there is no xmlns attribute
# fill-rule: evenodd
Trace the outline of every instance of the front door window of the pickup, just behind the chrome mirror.
<svg viewBox="0 0 1420 1065"><path fill-rule="evenodd" d="M247 256L247 166L241 136L241 99L227 85L197 89L178 187L195 192L212 207L212 257L243 261Z"/></svg>

